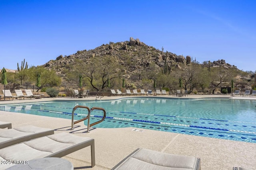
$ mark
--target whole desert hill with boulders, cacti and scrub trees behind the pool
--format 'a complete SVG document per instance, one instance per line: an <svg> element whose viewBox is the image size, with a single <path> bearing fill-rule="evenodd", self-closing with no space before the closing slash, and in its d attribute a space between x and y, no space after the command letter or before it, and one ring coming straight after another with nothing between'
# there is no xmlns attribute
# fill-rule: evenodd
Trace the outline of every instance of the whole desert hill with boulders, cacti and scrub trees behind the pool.
<svg viewBox="0 0 256 170"><path fill-rule="evenodd" d="M232 90L255 88L253 72L238 70L224 59L198 63L190 56L176 55L164 48L155 49L132 37L130 41L110 42L73 55L60 55L42 66L18 72L11 81L18 83L18 78L19 82L34 84L34 76L38 73L44 81L40 88L47 84L65 86L65 90L77 89L80 75L82 88L91 91L122 89L123 78L128 89L153 89L154 80L156 89L181 89L189 93L216 93L220 87L231 87L232 80Z"/></svg>

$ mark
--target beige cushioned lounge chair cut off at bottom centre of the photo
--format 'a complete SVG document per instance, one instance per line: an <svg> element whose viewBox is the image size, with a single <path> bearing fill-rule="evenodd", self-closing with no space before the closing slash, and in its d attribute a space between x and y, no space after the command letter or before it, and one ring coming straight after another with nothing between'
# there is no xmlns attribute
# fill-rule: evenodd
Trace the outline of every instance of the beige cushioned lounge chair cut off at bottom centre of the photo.
<svg viewBox="0 0 256 170"><path fill-rule="evenodd" d="M200 170L200 158L137 149L118 163L112 170Z"/></svg>

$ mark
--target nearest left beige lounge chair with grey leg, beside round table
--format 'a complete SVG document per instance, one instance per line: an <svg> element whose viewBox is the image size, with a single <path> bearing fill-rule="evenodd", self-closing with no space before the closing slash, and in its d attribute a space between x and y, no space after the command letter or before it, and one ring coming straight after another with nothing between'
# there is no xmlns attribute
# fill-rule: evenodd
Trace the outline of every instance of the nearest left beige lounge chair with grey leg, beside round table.
<svg viewBox="0 0 256 170"><path fill-rule="evenodd" d="M94 139L90 137L80 137L69 133L48 135L0 149L0 158L1 161L7 162L14 162L17 160L32 160L46 157L61 158L67 154L88 146L91 147L91 162L92 167L94 167ZM6 169L13 165L14 164L5 164L1 165L1 168Z"/></svg>

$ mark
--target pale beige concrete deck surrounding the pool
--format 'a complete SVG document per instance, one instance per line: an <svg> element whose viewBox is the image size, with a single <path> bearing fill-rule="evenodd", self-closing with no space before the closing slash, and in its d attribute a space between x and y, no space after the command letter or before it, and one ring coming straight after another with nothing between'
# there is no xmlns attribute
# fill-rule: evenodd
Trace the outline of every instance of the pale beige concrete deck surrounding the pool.
<svg viewBox="0 0 256 170"><path fill-rule="evenodd" d="M124 97L126 96L104 96L102 100ZM160 97L164 98L168 96ZM181 98L236 98L256 100L256 97L232 97L230 95L189 95L188 97ZM95 96L90 96L90 98L45 98L36 100L16 99L13 101L9 101L8 99L6 101L1 101L0 105L20 102L28 103L52 100L95 99ZM108 170L113 168L118 164L118 162L137 148L146 148L171 154L196 156L201 158L202 170L232 170L233 166L250 169L256 168L256 143L199 137L133 127L114 129L96 128L92 129L90 133L85 133L87 128L83 122L74 125L74 130L69 130L71 127L71 119L28 115L6 111L0 111L0 121L12 123L13 128L24 125L34 125L54 129L54 133L66 132L95 139L96 166L91 168L90 147L87 147L63 157L64 159L72 162L74 169ZM133 131L133 129L141 131Z"/></svg>

